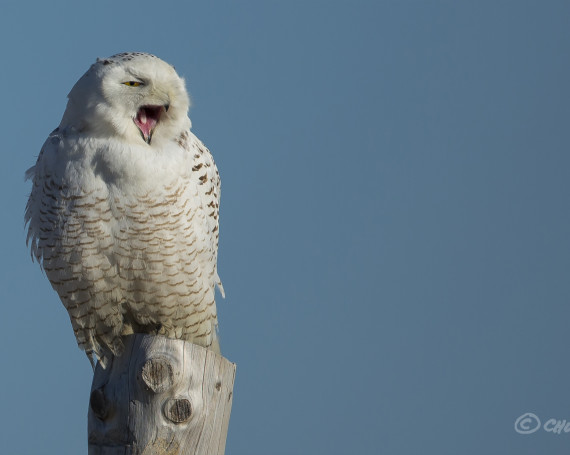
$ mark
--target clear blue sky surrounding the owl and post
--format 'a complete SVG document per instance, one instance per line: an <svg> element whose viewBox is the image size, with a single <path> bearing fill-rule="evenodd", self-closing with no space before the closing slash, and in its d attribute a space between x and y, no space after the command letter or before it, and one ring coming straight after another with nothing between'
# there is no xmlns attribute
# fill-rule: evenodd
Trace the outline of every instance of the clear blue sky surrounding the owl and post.
<svg viewBox="0 0 570 455"><path fill-rule="evenodd" d="M87 453L92 372L24 171L96 57L176 66L222 175L227 455L563 454L570 2L12 2L0 451Z"/></svg>

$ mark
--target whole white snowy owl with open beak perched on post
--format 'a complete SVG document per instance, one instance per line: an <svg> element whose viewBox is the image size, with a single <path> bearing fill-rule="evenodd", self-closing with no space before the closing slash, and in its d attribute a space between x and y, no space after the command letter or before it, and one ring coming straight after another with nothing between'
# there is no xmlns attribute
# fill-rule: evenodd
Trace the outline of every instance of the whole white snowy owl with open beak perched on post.
<svg viewBox="0 0 570 455"><path fill-rule="evenodd" d="M32 257L92 363L105 367L132 333L219 352L220 177L189 105L154 55L97 59L26 173Z"/></svg>

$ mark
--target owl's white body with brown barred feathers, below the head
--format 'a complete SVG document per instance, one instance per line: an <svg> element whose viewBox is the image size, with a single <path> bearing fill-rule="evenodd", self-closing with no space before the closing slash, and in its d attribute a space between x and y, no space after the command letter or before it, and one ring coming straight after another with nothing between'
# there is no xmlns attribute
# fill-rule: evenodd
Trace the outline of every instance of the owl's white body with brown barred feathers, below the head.
<svg viewBox="0 0 570 455"><path fill-rule="evenodd" d="M220 177L196 136L153 149L57 129L27 176L32 255L90 359L131 333L219 350Z"/></svg>

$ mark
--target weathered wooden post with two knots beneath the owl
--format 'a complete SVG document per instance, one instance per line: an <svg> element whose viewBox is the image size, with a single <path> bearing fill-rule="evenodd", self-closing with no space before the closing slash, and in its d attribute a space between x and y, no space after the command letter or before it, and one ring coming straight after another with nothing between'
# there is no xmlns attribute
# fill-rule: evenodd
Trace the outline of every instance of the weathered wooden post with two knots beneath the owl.
<svg viewBox="0 0 570 455"><path fill-rule="evenodd" d="M97 365L89 400L89 455L223 455L235 364L182 340L125 337Z"/></svg>

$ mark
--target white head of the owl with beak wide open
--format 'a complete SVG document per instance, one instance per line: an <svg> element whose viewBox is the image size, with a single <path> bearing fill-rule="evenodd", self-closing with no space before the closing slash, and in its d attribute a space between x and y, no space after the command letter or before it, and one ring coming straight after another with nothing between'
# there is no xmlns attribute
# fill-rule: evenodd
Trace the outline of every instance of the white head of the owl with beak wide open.
<svg viewBox="0 0 570 455"><path fill-rule="evenodd" d="M190 128L190 100L174 67L151 54L97 59L68 95L60 128L160 145Z"/></svg>

